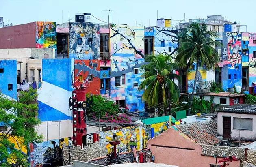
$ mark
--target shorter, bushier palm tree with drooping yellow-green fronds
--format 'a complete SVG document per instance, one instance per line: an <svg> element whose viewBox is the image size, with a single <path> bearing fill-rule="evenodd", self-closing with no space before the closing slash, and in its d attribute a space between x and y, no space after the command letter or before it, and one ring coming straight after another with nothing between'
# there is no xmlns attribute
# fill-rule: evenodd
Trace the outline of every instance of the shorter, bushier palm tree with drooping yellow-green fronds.
<svg viewBox="0 0 256 167"><path fill-rule="evenodd" d="M178 69L178 64L173 63L171 56L168 55L150 55L145 58L149 63L142 65L145 70L142 78L144 81L139 85L138 90L144 90L142 100L148 103L149 107L157 107L160 113L161 107L164 107L167 114L167 104L171 100L178 98L178 86L174 83L178 75L173 74L174 69Z"/></svg>

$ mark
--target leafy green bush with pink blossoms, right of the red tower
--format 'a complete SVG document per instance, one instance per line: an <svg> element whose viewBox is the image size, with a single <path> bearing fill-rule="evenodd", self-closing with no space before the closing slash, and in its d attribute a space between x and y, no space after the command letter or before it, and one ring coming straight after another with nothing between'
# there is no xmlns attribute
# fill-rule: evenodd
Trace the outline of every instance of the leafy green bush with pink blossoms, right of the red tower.
<svg viewBox="0 0 256 167"><path fill-rule="evenodd" d="M90 95L87 94L87 98ZM108 100L101 95L92 95L92 105L87 106L87 116L89 120L99 120L100 122L113 122L113 123L130 123L131 120L123 113L119 113L119 105L115 102Z"/></svg>

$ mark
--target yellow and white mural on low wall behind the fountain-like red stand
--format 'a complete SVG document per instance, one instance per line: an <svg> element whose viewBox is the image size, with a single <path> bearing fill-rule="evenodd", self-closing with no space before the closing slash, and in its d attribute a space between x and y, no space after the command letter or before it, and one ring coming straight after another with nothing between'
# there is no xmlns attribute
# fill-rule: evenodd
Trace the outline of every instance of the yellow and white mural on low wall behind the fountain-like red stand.
<svg viewBox="0 0 256 167"><path fill-rule="evenodd" d="M128 143L130 142L131 136L135 137L135 141L137 141L137 149L139 149L139 147L140 147L139 126L129 126L129 127L126 127L126 128L117 128L117 130L99 132L100 146L106 146L106 149L107 149L108 153L111 152L112 149L113 149L113 146L111 146L108 143L108 141L110 141L113 138L113 132L114 131L117 134L117 139L119 139L121 141L120 144L117 145L118 152L130 151ZM150 137L150 129L147 130L147 128L145 126L142 126L142 140L143 140L143 143L144 143L144 140L150 139L150 138L145 138L145 137Z"/></svg>

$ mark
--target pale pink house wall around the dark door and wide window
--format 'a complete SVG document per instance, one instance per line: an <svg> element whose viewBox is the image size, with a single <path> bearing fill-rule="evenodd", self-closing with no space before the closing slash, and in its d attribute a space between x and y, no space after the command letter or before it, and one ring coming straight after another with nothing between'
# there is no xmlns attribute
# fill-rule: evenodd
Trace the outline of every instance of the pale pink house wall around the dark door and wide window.
<svg viewBox="0 0 256 167"><path fill-rule="evenodd" d="M223 116L231 116L231 139L239 141L243 140L255 141L256 140L256 115L252 114L237 114L237 113L218 113L218 134L223 135ZM234 118L252 118L252 131L236 130L234 129Z"/></svg>

